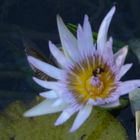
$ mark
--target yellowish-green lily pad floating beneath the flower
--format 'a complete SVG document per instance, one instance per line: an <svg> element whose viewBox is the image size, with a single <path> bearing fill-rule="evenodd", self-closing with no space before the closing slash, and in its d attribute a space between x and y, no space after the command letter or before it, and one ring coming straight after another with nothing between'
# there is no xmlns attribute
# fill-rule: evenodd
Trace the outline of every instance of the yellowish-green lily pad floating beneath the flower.
<svg viewBox="0 0 140 140"><path fill-rule="evenodd" d="M40 100L40 99L39 99ZM34 101L33 104L37 104ZM1 140L127 140L121 123L107 111L95 107L79 130L69 129L76 114L61 126L54 126L59 113L34 118L23 117L29 109L17 101L0 113Z"/></svg>

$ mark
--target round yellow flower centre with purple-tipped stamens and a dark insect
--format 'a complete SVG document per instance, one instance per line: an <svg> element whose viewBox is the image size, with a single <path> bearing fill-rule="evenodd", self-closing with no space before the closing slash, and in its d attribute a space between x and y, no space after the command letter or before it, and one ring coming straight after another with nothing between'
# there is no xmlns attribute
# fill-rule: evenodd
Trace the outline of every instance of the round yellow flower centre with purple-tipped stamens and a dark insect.
<svg viewBox="0 0 140 140"><path fill-rule="evenodd" d="M101 57L91 56L74 65L68 73L68 89L79 103L105 99L116 89L115 74Z"/></svg>

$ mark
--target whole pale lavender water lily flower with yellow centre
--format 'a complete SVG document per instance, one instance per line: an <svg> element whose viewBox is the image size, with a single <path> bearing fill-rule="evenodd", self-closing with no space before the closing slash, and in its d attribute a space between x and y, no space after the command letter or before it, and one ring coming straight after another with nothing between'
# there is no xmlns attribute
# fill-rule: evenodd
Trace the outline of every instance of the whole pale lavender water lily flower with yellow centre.
<svg viewBox="0 0 140 140"><path fill-rule="evenodd" d="M70 132L74 132L86 121L94 106L118 106L120 96L140 86L140 80L120 81L132 64L124 65L127 46L113 54L113 39L107 40L114 12L115 6L103 19L97 42L93 40L87 15L84 17L83 27L78 25L77 39L67 29L61 17L57 16L63 51L51 41L49 49L58 67L28 56L31 65L54 80L47 81L33 77L37 84L47 89L46 92L40 93L45 100L25 112L24 116L32 117L62 111L55 122L57 126L77 113L70 129Z"/></svg>

